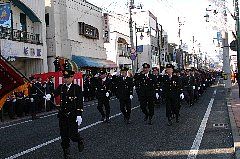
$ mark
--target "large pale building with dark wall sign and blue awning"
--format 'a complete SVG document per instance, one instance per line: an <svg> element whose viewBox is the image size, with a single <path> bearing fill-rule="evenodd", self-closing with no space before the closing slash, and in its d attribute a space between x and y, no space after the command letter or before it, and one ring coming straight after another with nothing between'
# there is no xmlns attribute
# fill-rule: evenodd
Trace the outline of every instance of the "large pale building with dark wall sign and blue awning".
<svg viewBox="0 0 240 159"><path fill-rule="evenodd" d="M101 8L86 0L48 0L46 17L50 71L57 56L71 59L81 70L115 67L106 60Z"/></svg>

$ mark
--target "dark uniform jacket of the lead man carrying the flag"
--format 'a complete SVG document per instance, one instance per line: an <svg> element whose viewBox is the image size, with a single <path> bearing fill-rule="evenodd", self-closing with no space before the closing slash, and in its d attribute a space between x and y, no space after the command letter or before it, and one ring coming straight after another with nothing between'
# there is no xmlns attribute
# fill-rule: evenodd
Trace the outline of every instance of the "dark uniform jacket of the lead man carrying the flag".
<svg viewBox="0 0 240 159"><path fill-rule="evenodd" d="M61 112L71 116L80 116L83 111L83 95L79 85L72 84L67 91L66 84L60 84L54 91L54 97L60 95Z"/></svg>

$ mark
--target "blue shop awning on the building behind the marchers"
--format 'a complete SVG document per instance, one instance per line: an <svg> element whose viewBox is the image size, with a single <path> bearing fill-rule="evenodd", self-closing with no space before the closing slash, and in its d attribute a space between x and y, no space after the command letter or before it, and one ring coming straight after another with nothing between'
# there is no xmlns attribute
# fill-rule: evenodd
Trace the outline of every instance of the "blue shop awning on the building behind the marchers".
<svg viewBox="0 0 240 159"><path fill-rule="evenodd" d="M72 56L72 60L78 67L117 68L117 65L111 60L76 55Z"/></svg>

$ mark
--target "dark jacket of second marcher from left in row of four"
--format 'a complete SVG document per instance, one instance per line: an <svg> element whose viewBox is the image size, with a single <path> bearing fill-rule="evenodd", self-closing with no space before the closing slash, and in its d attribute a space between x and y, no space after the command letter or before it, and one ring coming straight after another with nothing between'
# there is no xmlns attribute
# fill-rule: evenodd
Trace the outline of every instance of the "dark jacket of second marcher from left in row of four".
<svg viewBox="0 0 240 159"><path fill-rule="evenodd" d="M129 99L133 95L133 78L120 76L116 80L116 96L118 99Z"/></svg>

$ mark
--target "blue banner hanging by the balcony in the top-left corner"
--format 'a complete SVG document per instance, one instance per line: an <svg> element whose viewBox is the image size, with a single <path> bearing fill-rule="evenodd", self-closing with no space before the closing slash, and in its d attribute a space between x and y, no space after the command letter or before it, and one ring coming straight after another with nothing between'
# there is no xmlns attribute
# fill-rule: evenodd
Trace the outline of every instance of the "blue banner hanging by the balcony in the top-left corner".
<svg viewBox="0 0 240 159"><path fill-rule="evenodd" d="M0 4L0 26L11 28L11 4Z"/></svg>

